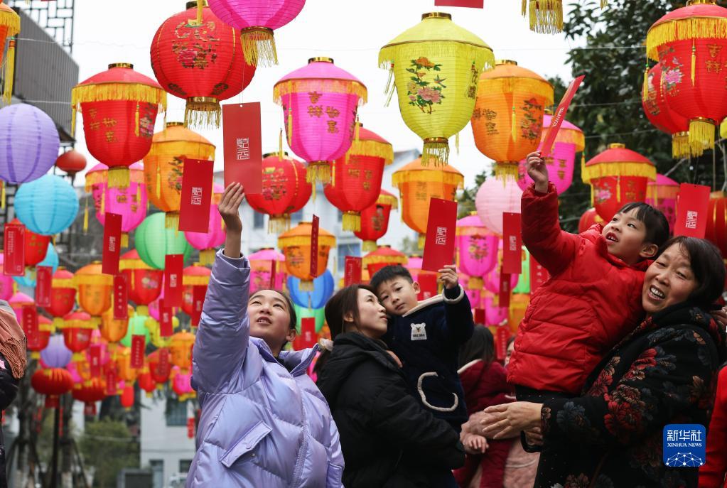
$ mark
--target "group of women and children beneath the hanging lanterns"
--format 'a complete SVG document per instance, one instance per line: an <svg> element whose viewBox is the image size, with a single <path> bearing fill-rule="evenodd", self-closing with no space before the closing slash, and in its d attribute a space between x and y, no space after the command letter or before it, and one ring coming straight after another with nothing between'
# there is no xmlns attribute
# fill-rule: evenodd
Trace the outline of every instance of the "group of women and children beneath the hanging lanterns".
<svg viewBox="0 0 727 488"><path fill-rule="evenodd" d="M504 364L454 266L425 301L409 271L391 266L329 299L332 342L315 383L318 346L285 347L296 333L288 296L249 295L244 189L230 184L193 350L201 419L188 487L722 487L720 252L670 238L646 203L563 232L539 153L527 170L523 243L550 279ZM702 468L664 464L672 423L709 426Z"/></svg>

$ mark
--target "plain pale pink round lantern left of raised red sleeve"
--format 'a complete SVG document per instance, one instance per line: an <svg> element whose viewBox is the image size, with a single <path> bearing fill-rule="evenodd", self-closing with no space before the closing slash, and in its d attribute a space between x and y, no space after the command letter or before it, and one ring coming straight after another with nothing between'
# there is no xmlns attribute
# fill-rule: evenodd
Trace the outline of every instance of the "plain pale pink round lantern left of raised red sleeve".
<svg viewBox="0 0 727 488"><path fill-rule="evenodd" d="M518 187L515 179L501 182L490 178L483 182L475 196L475 208L485 227L502 235L503 212L520 213L520 200L523 190Z"/></svg>

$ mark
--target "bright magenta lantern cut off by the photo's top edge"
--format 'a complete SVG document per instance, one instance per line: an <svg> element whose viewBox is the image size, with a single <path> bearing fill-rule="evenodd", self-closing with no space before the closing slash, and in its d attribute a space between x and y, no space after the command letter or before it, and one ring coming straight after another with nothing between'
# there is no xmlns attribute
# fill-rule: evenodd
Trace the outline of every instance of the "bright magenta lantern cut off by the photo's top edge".
<svg viewBox="0 0 727 488"><path fill-rule="evenodd" d="M212 9L222 22L241 31L242 52L252 65L277 65L278 54L273 30L297 17L305 0L210 0Z"/></svg>

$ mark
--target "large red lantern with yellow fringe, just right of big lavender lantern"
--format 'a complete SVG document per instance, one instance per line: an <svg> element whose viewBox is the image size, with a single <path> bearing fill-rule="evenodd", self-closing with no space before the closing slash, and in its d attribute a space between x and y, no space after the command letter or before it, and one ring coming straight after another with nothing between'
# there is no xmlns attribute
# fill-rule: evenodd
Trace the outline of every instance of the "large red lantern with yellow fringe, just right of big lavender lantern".
<svg viewBox="0 0 727 488"><path fill-rule="evenodd" d="M108 186L129 186L129 166L151 147L158 110L166 108L166 92L156 81L117 62L76 85L71 91L76 110L84 114L84 137L91 155L108 166Z"/></svg>

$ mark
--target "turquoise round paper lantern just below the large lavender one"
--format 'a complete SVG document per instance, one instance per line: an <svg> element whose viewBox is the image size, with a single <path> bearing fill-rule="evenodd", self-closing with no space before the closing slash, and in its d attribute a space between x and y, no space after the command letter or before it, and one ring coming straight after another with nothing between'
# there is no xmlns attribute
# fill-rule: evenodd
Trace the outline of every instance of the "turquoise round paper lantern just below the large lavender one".
<svg viewBox="0 0 727 488"><path fill-rule="evenodd" d="M46 174L20 186L15 193L15 215L36 234L60 234L79 213L79 198L70 183Z"/></svg>

